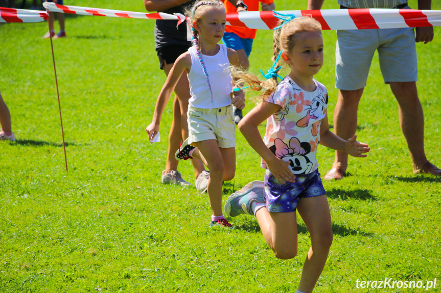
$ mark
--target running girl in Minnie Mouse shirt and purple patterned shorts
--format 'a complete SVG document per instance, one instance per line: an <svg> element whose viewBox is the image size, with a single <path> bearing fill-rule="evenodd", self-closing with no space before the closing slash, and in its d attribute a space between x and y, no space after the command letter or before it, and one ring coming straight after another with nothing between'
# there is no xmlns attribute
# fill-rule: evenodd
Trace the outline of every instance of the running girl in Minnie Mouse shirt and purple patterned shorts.
<svg viewBox="0 0 441 293"><path fill-rule="evenodd" d="M239 123L248 143L262 157L265 182L253 181L231 195L225 203L225 213L233 217L256 215L275 256L289 259L297 254L298 210L310 232L311 248L297 293L310 293L332 243L331 214L316 159L318 144L356 157L365 157L369 148L357 142L356 136L345 141L329 130L328 93L313 78L323 65L319 22L298 17L283 24L274 33L274 57L276 62L281 57L291 69L278 85L273 78L260 82L256 76L238 73L252 89L265 89L263 102ZM265 120L262 140L258 125Z"/></svg>

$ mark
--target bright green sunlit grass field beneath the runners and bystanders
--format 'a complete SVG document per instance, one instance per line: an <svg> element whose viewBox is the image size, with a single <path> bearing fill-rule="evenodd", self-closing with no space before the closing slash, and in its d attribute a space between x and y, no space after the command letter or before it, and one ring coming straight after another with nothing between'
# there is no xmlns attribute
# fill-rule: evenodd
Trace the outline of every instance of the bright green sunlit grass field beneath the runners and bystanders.
<svg viewBox="0 0 441 293"><path fill-rule="evenodd" d="M416 0L410 1L416 8ZM28 3L30 6L30 3ZM144 12L141 0L66 1L66 5ZM277 9L306 1L276 0ZM433 9L441 4L432 1ZM328 0L324 8L338 8ZM0 143L0 292L293 292L310 246L298 218L298 256L282 261L267 247L256 219L210 228L206 194L160 183L171 103L160 143L148 142L157 94L165 82L154 50L152 20L66 15L66 39L54 40L68 172L46 22L0 26L0 91L17 142ZM58 31L58 22L55 23ZM334 88L335 32L323 32L325 62L316 76ZM271 67L270 31L259 31L251 71ZM417 44L425 146L441 166L439 85L441 30ZM437 279L441 288L441 182L413 175L377 56L359 108L358 137L372 148L351 158L350 176L324 182L334 243L315 292L425 292L425 288L357 288L356 282ZM251 96L251 95L250 95ZM256 95L254 95L256 97ZM246 111L252 108L248 103ZM262 133L265 126L261 126ZM236 178L224 200L262 180L259 156L238 132ZM334 151L320 147L322 175ZM183 177L193 168L181 163Z"/></svg>

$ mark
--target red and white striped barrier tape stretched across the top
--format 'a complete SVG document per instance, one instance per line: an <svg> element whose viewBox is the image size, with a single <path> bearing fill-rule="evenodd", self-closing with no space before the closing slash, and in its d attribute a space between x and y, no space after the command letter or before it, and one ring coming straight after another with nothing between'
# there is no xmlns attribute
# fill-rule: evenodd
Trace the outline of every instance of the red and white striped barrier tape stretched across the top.
<svg viewBox="0 0 441 293"><path fill-rule="evenodd" d="M142 19L178 19L184 20L181 14L142 13L78 6L64 6L45 2L43 6L51 12L78 15L97 15L109 17L142 18ZM295 16L310 15L317 19L323 30L361 30L391 29L413 26L441 26L441 11L413 9L329 9L329 10L289 10L278 11ZM278 19L272 11L249 11L227 13L227 24L243 28L270 30ZM0 8L0 22L37 22L48 18L46 12Z"/></svg>

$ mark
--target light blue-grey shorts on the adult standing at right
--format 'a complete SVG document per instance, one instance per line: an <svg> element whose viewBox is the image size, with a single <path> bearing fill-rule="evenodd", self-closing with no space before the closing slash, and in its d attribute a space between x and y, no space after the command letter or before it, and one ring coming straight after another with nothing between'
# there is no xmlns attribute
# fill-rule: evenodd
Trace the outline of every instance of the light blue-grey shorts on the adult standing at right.
<svg viewBox="0 0 441 293"><path fill-rule="evenodd" d="M335 87L348 91L364 88L376 50L384 83L418 80L413 28L339 30L335 50Z"/></svg>

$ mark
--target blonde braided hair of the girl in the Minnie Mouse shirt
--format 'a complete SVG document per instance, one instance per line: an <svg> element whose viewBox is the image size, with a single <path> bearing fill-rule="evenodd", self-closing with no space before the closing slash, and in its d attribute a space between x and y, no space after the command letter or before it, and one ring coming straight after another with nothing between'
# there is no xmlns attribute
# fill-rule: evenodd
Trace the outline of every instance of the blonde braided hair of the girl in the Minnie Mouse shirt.
<svg viewBox="0 0 441 293"><path fill-rule="evenodd" d="M281 20L280 24L282 23L283 21ZM321 32L320 22L309 16L300 16L283 24L281 29L275 30L273 34L273 57L271 60L276 61L280 51L291 51L295 46L297 36L303 32ZM282 65L284 65L284 62L278 60L274 67ZM251 90L264 90L261 94L262 100L265 100L275 92L277 77L261 81L256 75L245 72L241 68L233 68L231 72L234 77L235 86L241 87L243 84L247 84Z"/></svg>

